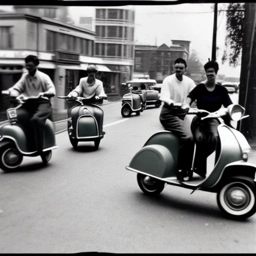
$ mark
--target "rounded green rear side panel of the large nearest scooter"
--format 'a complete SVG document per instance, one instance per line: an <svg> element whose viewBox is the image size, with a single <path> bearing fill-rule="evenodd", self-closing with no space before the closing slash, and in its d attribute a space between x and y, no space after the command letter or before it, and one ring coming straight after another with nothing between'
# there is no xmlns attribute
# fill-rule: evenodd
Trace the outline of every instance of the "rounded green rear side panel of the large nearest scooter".
<svg viewBox="0 0 256 256"><path fill-rule="evenodd" d="M129 163L129 167L133 169L161 178L174 176L175 165L170 151L157 144L143 146Z"/></svg>

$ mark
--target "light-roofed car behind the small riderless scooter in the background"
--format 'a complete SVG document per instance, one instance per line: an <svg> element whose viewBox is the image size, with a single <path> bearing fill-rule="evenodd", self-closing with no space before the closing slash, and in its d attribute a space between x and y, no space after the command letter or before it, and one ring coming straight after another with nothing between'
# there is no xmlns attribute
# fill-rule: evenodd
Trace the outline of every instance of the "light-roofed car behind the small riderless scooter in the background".
<svg viewBox="0 0 256 256"><path fill-rule="evenodd" d="M148 105L155 105L156 107L160 106L161 101L159 100L159 91L153 89L153 85L156 84L155 79L138 78L138 79L132 79L123 83L125 88L128 88L128 84L130 84L131 87L136 88L136 90L141 90L141 85L144 84L145 90L146 90L146 106Z"/></svg>

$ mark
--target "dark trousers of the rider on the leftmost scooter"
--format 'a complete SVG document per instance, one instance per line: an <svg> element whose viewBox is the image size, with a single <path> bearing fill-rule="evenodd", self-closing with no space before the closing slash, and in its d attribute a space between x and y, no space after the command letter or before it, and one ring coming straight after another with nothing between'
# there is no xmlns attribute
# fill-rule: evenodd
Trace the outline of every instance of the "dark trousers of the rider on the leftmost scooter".
<svg viewBox="0 0 256 256"><path fill-rule="evenodd" d="M51 103L24 103L17 108L18 123L24 128L28 146L31 150L42 151L44 125L51 115Z"/></svg>

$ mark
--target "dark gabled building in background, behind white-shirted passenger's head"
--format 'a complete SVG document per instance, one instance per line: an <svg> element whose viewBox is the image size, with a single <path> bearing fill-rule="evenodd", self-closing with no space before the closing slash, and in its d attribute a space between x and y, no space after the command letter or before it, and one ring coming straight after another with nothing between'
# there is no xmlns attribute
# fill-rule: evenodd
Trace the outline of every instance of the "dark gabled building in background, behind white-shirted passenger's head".
<svg viewBox="0 0 256 256"><path fill-rule="evenodd" d="M134 74L146 75L162 81L174 72L174 60L178 57L188 60L190 41L172 40L172 45L135 45ZM181 45L182 44L182 45Z"/></svg>

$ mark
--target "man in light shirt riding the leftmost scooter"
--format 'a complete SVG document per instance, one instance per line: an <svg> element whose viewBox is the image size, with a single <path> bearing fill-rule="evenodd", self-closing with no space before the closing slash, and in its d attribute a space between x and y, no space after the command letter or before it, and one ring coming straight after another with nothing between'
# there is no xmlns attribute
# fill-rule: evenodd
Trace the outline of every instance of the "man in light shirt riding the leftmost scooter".
<svg viewBox="0 0 256 256"><path fill-rule="evenodd" d="M29 96L42 96L40 101L25 102L17 108L18 122L25 127L25 132L32 140L30 130L34 133L36 150L43 149L44 124L51 114L50 97L55 95L55 87L50 77L39 71L37 66L39 59L35 55L25 57L25 67L28 72L22 74L21 78L8 90L11 97L16 97L20 102Z"/></svg>

